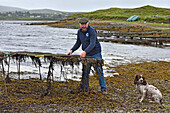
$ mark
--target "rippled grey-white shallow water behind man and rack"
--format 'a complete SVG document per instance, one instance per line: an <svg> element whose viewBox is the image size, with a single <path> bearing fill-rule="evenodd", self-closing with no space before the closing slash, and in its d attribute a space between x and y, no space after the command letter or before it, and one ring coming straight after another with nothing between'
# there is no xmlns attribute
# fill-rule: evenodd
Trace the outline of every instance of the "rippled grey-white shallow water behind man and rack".
<svg viewBox="0 0 170 113"><path fill-rule="evenodd" d="M48 52L54 54L67 54L76 41L77 29L53 28L39 25L25 25L37 21L0 21L0 52ZM122 63L140 62L140 61L168 61L170 62L169 48L156 48L149 46L116 44L110 42L101 42L102 55L105 64L115 67ZM81 54L81 48L74 55ZM44 64L42 73L44 77L47 74L48 64ZM59 66L56 66L55 73L59 74ZM69 68L69 67L68 67ZM66 67L66 70L67 69ZM68 78L77 79L81 75L81 69L76 68L74 74L68 73ZM12 63L11 72L16 72L16 65ZM30 71L38 73L31 61L23 63L21 71ZM106 67L104 67L105 75ZM71 73L69 70L68 72ZM31 74L22 76L28 78ZM35 75L34 75L35 76ZM15 77L15 75L14 75ZM32 75L31 75L32 77ZM58 77L57 77L58 78ZM59 78L63 80L63 77Z"/></svg>

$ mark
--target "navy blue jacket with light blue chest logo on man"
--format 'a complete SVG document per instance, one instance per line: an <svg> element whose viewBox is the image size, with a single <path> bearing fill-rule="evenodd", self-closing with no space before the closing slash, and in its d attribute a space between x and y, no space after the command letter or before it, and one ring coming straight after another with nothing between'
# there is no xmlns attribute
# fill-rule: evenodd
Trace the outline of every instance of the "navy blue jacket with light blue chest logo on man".
<svg viewBox="0 0 170 113"><path fill-rule="evenodd" d="M93 56L101 52L101 46L97 39L96 30L91 26L88 26L86 32L83 32L81 28L78 30L77 41L71 50L74 52L81 44L82 50L86 51L87 56Z"/></svg>

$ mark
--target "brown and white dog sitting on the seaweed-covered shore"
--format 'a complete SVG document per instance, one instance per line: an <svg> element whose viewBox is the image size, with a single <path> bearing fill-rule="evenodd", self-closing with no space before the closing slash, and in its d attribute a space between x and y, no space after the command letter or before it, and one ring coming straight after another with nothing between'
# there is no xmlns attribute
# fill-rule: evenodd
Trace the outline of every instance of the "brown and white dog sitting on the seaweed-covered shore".
<svg viewBox="0 0 170 113"><path fill-rule="evenodd" d="M139 100L141 103L145 97L155 101L156 103L161 103L162 94L161 92L153 85L149 85L145 77L142 75L136 75L134 84L136 85L137 91L142 94L142 98Z"/></svg>

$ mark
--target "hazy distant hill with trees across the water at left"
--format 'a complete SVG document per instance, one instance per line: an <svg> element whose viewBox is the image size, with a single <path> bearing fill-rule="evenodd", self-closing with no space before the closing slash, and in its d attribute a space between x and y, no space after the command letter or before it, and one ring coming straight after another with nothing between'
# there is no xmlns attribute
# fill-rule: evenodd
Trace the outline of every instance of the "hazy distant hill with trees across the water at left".
<svg viewBox="0 0 170 113"><path fill-rule="evenodd" d="M0 20L62 20L77 12L62 12L51 9L27 10L0 6Z"/></svg>

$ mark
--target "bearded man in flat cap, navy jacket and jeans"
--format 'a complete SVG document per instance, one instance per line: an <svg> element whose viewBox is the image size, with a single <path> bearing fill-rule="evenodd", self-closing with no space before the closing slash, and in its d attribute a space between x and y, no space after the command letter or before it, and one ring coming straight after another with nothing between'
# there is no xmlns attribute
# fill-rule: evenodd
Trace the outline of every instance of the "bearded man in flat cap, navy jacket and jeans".
<svg viewBox="0 0 170 113"><path fill-rule="evenodd" d="M89 26L88 19L86 18L80 19L79 25L80 25L80 29L78 30L78 33L77 33L77 41L67 55L71 55L82 44L83 52L80 55L81 58L88 56L91 58L102 59L101 45L97 39L96 30L92 28L91 26ZM88 71L87 69L85 69L84 71L85 72L84 77L85 77L85 80L87 81L89 79L90 70L91 70L91 66ZM98 75L99 75L99 84L101 86L101 91L103 94L107 94L107 88L105 86L103 70L102 68L100 70L102 74L98 70ZM83 81L83 87L85 87L86 89L88 88L87 82Z"/></svg>

